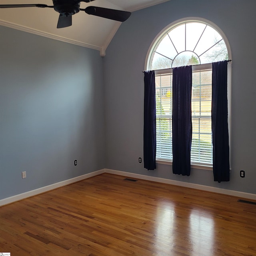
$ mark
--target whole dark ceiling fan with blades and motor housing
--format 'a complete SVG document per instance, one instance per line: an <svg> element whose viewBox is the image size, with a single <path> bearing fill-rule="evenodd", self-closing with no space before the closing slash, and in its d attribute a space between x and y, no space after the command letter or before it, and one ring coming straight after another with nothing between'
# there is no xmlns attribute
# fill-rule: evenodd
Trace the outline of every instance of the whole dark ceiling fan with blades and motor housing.
<svg viewBox="0 0 256 256"><path fill-rule="evenodd" d="M94 0L52 0L53 6L47 4L0 4L0 8L20 8L20 7L39 7L39 8L54 8L60 14L57 28L66 28L72 25L72 15L79 11L84 11L87 14L117 20L123 22L127 20L131 12L102 8L97 6L88 6L85 9L80 8L80 2L92 2Z"/></svg>

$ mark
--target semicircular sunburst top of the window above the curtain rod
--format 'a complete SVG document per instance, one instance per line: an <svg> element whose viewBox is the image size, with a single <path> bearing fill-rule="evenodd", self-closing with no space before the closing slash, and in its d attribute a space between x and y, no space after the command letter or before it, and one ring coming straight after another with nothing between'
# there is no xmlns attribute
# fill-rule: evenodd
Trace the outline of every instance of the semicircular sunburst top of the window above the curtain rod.
<svg viewBox="0 0 256 256"><path fill-rule="evenodd" d="M146 69L206 64L231 58L227 40L216 25L204 19L180 20L156 37Z"/></svg>

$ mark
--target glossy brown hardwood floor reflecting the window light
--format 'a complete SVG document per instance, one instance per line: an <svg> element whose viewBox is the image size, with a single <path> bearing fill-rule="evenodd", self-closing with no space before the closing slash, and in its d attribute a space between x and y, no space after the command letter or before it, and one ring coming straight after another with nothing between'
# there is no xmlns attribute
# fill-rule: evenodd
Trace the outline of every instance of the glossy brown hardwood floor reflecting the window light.
<svg viewBox="0 0 256 256"><path fill-rule="evenodd" d="M254 256L256 205L101 174L0 208L11 256Z"/></svg>

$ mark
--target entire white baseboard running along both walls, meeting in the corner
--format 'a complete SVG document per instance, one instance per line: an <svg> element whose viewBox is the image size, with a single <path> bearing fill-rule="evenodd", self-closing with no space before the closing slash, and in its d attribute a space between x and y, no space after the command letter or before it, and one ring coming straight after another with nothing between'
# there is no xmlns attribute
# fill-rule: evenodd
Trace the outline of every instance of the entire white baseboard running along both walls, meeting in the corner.
<svg viewBox="0 0 256 256"><path fill-rule="evenodd" d="M224 188L215 188L215 187L210 187L210 186L204 186L204 185L199 185L199 184L194 184L194 183L188 183L188 182L182 182L182 181L177 181L177 180L168 180L164 178L158 178L158 177L152 177L152 176L147 176L147 175L142 175L142 174L136 174L132 172L123 172L123 171L118 171L118 170L111 170L111 169L102 169L98 170L95 172L90 172L88 174L84 174L75 178L71 178L69 180L63 180L61 182L57 182L48 186L44 186L42 188L37 188L35 190L31 190L28 192L24 192L22 194L18 194L15 196L10 196L8 198L4 198L0 200L0 206L3 206L5 204L10 204L31 196L35 196L38 194L42 194L44 192L60 188L62 186L66 186L68 184L78 182L80 180L88 179L93 176L102 174L102 173L110 173L110 174L116 174L116 175L121 175L129 178L137 178L137 179L142 179L142 180L149 180L149 181L154 181L154 182L160 182L160 183L166 183L166 184L171 184L171 185L176 185L176 186L182 186L182 187L187 187L187 188L195 188L199 190L204 190L204 191L209 191L209 192L215 192L219 194L226 194L230 196L237 196L240 198L248 198L252 200L256 200L256 194L250 194L250 193L245 193L245 192L240 192L240 191L235 191L235 190L228 190Z"/></svg>

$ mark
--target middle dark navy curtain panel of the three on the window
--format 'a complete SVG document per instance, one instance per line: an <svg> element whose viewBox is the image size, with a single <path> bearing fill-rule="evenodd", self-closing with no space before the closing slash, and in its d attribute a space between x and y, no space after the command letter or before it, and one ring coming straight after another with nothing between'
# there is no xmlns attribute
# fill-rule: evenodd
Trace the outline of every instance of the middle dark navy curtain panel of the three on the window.
<svg viewBox="0 0 256 256"><path fill-rule="evenodd" d="M172 69L172 172L190 176L192 66Z"/></svg>

